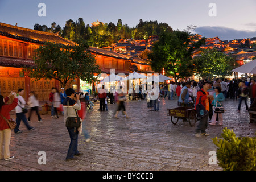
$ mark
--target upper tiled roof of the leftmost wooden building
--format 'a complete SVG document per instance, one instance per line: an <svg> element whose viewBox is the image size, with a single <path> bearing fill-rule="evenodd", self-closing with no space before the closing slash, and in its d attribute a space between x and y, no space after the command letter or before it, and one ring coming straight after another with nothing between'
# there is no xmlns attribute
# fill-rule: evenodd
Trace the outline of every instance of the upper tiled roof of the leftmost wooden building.
<svg viewBox="0 0 256 182"><path fill-rule="evenodd" d="M42 44L47 41L60 43L64 45L71 45L71 46L74 46L76 44L75 42L61 38L58 34L32 30L29 28L22 28L22 27L13 26L13 25L1 23L1 22L0 22L0 35L8 36L13 39L23 40L26 42L39 43L39 44Z"/></svg>

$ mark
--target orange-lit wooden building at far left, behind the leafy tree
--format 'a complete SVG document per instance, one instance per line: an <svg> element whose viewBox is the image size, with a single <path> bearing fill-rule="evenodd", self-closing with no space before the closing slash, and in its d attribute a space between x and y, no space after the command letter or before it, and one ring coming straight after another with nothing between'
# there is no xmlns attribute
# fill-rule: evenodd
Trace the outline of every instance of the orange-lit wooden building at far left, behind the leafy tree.
<svg viewBox="0 0 256 182"><path fill-rule="evenodd" d="M75 44L58 34L0 23L0 92L3 96L23 88L26 100L30 91L35 91L40 101L47 101L51 88L59 88L60 84L55 80L35 82L24 74L24 67L34 65L34 50L46 41Z"/></svg>

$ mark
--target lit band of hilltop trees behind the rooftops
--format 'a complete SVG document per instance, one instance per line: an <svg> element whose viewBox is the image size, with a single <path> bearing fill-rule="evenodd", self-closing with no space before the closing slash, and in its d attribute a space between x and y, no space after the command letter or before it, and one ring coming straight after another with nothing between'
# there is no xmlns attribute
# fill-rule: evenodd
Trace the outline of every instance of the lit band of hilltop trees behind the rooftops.
<svg viewBox="0 0 256 182"><path fill-rule="evenodd" d="M121 19L118 19L117 26L110 22L109 24L101 23L98 26L90 27L82 18L74 22L69 19L64 28L53 22L51 27L46 25L35 24L34 30L46 32L59 32L59 35L65 39L78 41L80 39L88 42L89 46L93 47L108 47L112 43L117 43L122 39L147 39L151 35L160 35L162 32L171 32L172 28L167 23L158 23L157 21L143 22L142 19L136 27L130 28L127 24L123 24Z"/></svg>

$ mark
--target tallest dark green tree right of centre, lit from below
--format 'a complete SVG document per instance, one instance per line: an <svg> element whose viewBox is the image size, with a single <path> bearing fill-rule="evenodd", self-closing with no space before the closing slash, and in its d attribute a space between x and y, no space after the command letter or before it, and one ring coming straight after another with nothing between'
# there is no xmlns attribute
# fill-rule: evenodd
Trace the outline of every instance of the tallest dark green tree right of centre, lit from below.
<svg viewBox="0 0 256 182"><path fill-rule="evenodd" d="M192 51L199 48L204 40L199 40L193 47L189 47L189 36L187 31L164 31L148 56L152 69L160 73L164 68L166 75L174 77L175 82L179 78L192 76L195 72Z"/></svg>

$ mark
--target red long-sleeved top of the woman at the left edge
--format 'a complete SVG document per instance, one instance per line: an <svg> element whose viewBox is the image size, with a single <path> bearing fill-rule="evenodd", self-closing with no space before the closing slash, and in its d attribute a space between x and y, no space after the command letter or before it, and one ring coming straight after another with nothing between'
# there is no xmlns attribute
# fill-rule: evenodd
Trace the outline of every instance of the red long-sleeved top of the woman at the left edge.
<svg viewBox="0 0 256 182"><path fill-rule="evenodd" d="M9 101L8 97L5 97L5 103ZM10 119L10 111L13 110L18 105L18 98L14 98L12 104L5 104L2 106L0 113L6 118ZM0 115L0 130L9 129L9 126L5 119Z"/></svg>

